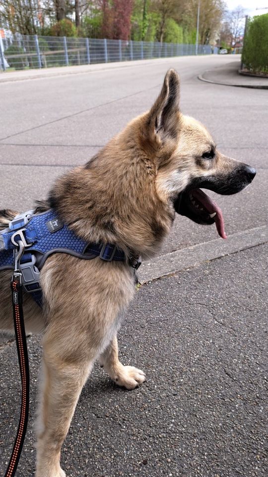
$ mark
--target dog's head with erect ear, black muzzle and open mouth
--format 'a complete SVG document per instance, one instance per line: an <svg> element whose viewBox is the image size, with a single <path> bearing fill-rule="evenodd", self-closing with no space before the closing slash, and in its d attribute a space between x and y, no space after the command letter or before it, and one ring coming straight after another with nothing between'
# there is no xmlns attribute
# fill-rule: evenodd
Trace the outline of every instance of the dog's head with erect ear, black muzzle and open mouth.
<svg viewBox="0 0 268 477"><path fill-rule="evenodd" d="M179 214L199 224L215 223L226 238L220 208L200 188L235 194L251 183L256 170L221 154L205 127L180 113L179 89L178 74L169 70L143 122L144 144L157 161L157 192L171 199Z"/></svg>

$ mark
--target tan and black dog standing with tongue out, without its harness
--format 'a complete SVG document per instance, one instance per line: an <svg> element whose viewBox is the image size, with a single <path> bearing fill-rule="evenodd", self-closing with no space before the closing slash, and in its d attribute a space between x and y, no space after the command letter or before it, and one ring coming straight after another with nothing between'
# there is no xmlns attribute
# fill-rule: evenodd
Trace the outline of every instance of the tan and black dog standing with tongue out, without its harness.
<svg viewBox="0 0 268 477"><path fill-rule="evenodd" d="M60 177L36 212L54 209L88 243L112 243L126 257L152 257L175 212L198 224L222 213L200 187L235 194L253 180L252 167L217 151L204 126L179 109L179 76L169 70L151 109L131 121L85 165ZM0 211L0 228L16 212ZM0 328L12 330L10 270L0 272ZM129 390L144 373L118 359L117 331L134 296L128 261L81 260L52 254L41 271L43 309L24 294L26 332L43 334L43 384L37 432L36 477L64 477L61 447L92 366Z"/></svg>

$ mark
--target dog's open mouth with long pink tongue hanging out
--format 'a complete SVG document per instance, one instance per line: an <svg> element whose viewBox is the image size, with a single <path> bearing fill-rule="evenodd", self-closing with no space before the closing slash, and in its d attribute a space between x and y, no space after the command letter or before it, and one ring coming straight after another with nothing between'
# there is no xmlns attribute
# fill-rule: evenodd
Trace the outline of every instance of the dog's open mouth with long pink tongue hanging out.
<svg viewBox="0 0 268 477"><path fill-rule="evenodd" d="M219 206L201 189L190 189L182 192L174 203L176 212L189 217L198 224L216 224L217 232L222 239L227 239L224 220Z"/></svg>

